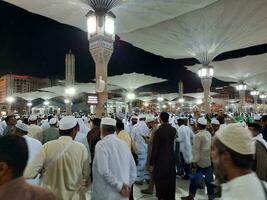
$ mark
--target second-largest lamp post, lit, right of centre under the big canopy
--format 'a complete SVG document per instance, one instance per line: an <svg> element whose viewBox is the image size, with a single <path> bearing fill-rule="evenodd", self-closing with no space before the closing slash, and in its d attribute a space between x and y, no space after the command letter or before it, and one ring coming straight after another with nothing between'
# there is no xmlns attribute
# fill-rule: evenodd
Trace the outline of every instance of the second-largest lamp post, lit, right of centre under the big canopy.
<svg viewBox="0 0 267 200"><path fill-rule="evenodd" d="M209 65L204 65L198 70L198 76L201 79L201 84L204 89L204 104L205 113L210 113L210 87L214 75L214 68Z"/></svg>

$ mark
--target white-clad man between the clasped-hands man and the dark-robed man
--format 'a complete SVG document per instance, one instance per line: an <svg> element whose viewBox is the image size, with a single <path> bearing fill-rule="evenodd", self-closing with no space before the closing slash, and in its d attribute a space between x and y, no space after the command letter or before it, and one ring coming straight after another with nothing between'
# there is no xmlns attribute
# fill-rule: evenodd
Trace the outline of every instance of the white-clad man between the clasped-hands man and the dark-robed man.
<svg viewBox="0 0 267 200"><path fill-rule="evenodd" d="M133 126L131 136L136 144L138 154L136 184L142 185L144 180L150 179L149 173L145 170L148 151L145 138L149 136L150 131L145 122L146 116L140 114L138 118L139 121Z"/></svg>

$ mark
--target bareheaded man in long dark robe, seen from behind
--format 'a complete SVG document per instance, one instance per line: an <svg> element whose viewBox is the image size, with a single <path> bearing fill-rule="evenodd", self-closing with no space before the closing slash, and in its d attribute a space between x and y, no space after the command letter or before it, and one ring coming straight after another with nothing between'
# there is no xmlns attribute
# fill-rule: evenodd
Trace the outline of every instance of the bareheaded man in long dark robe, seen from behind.
<svg viewBox="0 0 267 200"><path fill-rule="evenodd" d="M150 163L154 166L153 175L159 200L175 199L175 154L176 129L169 123L169 114L160 114L161 126L155 132Z"/></svg>

